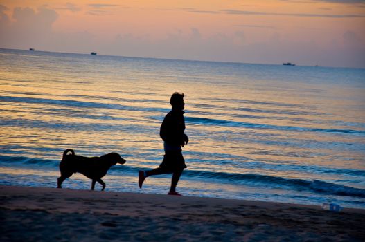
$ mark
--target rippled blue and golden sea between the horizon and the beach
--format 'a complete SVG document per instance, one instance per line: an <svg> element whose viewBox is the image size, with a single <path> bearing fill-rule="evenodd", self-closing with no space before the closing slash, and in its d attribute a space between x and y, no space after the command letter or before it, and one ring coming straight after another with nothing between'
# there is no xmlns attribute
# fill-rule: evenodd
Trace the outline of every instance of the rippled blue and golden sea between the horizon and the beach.
<svg viewBox="0 0 365 242"><path fill-rule="evenodd" d="M72 148L127 160L107 191L166 194L170 175L137 182L163 158L175 91L190 139L179 193L365 209L365 69L353 68L0 49L0 185L57 187Z"/></svg>

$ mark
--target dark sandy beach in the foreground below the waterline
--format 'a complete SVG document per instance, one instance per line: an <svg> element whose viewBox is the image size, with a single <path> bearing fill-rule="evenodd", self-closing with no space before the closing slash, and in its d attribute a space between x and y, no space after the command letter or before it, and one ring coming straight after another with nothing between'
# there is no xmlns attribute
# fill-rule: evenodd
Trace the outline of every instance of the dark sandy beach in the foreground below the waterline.
<svg viewBox="0 0 365 242"><path fill-rule="evenodd" d="M1 241L364 241L365 210L0 186Z"/></svg>

